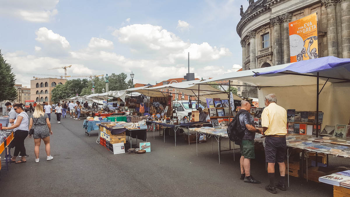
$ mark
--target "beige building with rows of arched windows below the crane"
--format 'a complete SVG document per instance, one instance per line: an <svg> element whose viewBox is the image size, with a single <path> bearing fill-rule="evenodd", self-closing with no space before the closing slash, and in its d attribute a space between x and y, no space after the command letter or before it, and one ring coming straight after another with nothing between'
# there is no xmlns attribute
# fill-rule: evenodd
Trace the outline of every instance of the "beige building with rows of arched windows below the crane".
<svg viewBox="0 0 350 197"><path fill-rule="evenodd" d="M33 79L30 80L30 98L40 104L44 101L48 101L52 104L51 91L58 84L64 84L66 79L56 78L44 78L44 79Z"/></svg>

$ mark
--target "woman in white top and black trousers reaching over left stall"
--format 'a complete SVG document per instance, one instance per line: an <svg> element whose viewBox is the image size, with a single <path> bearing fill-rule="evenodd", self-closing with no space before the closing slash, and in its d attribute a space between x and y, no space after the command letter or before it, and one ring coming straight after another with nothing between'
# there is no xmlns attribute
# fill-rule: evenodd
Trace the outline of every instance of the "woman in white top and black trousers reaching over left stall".
<svg viewBox="0 0 350 197"><path fill-rule="evenodd" d="M14 125L11 127L2 127L2 129L13 129L15 131L14 134L14 144L15 144L15 152L13 153L13 157L11 158L12 162L16 162L16 157L21 151L22 158L16 163L24 163L26 162L26 148L24 146L24 140L28 136L29 128L29 117L25 111L23 111L23 107L21 104L14 104L13 109L18 113L16 120L14 121Z"/></svg>

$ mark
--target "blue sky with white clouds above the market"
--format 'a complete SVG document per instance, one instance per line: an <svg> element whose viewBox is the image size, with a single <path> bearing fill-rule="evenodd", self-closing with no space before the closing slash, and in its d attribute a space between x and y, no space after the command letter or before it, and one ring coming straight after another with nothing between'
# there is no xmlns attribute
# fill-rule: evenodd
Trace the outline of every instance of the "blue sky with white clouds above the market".
<svg viewBox="0 0 350 197"><path fill-rule="evenodd" d="M16 83L27 73L105 75L134 83L161 82L190 72L208 79L241 68L236 32L248 1L0 0L0 49ZM76 78L68 78L76 79ZM127 79L127 80L128 80Z"/></svg>

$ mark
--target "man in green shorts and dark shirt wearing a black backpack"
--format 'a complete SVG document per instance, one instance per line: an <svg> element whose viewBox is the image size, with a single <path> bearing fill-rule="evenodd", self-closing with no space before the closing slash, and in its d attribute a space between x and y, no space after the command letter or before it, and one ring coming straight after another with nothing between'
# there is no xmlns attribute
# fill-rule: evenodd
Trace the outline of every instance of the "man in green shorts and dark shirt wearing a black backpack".
<svg viewBox="0 0 350 197"><path fill-rule="evenodd" d="M255 133L261 133L261 129L254 127L254 119L250 114L251 104L248 101L241 101L239 110L240 130L244 131L244 136L237 144L240 145L241 158L239 159L241 175L240 179L245 183L261 183L250 174L250 159L255 159L254 138Z"/></svg>

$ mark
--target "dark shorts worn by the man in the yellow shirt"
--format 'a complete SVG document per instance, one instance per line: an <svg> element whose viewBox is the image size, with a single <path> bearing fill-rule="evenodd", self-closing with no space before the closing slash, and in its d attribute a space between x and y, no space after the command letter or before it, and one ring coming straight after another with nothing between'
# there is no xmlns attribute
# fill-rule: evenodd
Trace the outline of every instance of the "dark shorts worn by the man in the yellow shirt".
<svg viewBox="0 0 350 197"><path fill-rule="evenodd" d="M286 155L286 138L267 136L265 140L265 158L267 163L282 163Z"/></svg>

